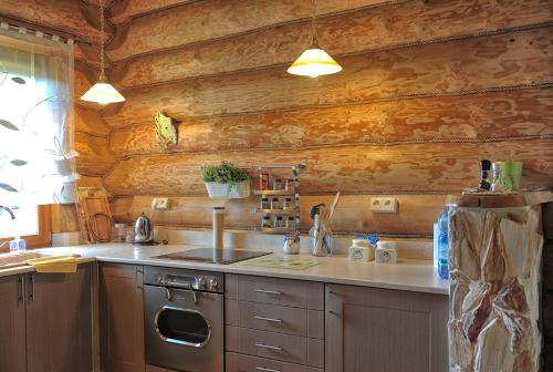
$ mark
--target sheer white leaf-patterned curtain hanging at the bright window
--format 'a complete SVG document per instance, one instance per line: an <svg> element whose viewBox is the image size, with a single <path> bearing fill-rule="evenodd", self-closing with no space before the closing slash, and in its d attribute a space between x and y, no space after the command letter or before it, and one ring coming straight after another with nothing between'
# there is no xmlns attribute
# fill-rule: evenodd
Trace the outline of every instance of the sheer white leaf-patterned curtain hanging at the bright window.
<svg viewBox="0 0 553 372"><path fill-rule="evenodd" d="M72 202L73 45L0 29L0 205Z"/></svg>

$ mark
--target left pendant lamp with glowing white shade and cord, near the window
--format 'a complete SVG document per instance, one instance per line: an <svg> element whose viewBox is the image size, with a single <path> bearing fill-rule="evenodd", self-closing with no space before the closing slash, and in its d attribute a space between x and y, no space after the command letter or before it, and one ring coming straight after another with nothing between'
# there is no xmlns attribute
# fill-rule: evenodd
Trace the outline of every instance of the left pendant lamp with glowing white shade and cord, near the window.
<svg viewBox="0 0 553 372"><path fill-rule="evenodd" d="M94 84L86 93L83 94L81 100L88 102L96 102L100 104L107 104L114 102L123 102L125 97L121 95L115 87L107 82L107 78L104 71L104 4L103 0L100 0L100 79L96 84Z"/></svg>

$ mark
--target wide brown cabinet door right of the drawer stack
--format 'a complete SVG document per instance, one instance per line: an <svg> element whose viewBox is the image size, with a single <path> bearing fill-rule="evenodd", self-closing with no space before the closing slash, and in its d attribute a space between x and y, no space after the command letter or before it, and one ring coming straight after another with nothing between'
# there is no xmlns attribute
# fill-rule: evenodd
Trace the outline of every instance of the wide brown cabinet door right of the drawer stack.
<svg viewBox="0 0 553 372"><path fill-rule="evenodd" d="M327 372L448 370L448 297L326 286Z"/></svg>

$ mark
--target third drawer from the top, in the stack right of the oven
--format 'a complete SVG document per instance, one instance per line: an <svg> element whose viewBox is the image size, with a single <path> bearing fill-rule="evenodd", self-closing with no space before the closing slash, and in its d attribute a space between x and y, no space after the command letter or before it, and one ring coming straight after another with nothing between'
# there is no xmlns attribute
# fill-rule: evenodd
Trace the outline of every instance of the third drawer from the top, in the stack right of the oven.
<svg viewBox="0 0 553 372"><path fill-rule="evenodd" d="M317 368L324 365L323 340L230 326L226 335L228 351Z"/></svg>

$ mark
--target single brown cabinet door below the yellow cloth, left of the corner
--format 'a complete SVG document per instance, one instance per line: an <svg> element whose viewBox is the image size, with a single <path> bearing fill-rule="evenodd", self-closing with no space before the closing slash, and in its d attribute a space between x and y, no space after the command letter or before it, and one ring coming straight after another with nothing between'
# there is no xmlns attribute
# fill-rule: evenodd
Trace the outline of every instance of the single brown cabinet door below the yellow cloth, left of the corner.
<svg viewBox="0 0 553 372"><path fill-rule="evenodd" d="M33 372L92 370L91 265L75 273L31 273L27 282L27 358Z"/></svg>

